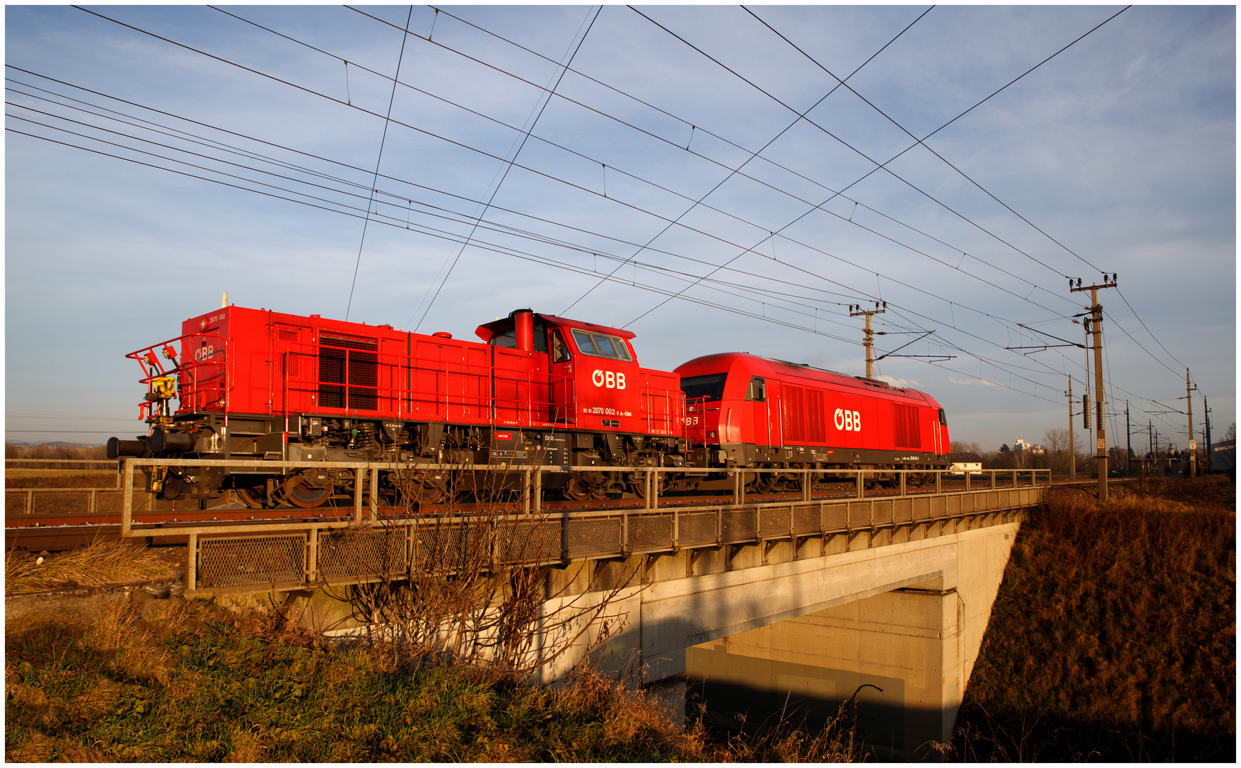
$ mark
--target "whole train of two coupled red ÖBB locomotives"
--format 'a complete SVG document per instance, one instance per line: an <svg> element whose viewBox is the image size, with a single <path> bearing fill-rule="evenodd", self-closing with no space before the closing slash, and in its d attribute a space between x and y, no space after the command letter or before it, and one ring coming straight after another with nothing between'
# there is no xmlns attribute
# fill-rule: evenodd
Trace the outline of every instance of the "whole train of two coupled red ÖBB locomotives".
<svg viewBox="0 0 1241 768"><path fill-rule="evenodd" d="M542 485L577 500L644 493L640 469L609 468L666 468L664 488L710 490L731 480L676 469L867 468L879 480L884 469L947 465L943 411L912 390L742 354L675 372L643 368L634 334L529 309L475 333L483 342L241 306L191 318L180 336L128 355L148 385L150 433L112 438L108 455L571 465L547 471ZM377 491L434 502L449 486L511 489L522 479L452 474L386 470ZM261 467L148 475L166 499L233 489L254 507L351 499L354 478L350 469ZM748 480L766 491L782 478Z"/></svg>

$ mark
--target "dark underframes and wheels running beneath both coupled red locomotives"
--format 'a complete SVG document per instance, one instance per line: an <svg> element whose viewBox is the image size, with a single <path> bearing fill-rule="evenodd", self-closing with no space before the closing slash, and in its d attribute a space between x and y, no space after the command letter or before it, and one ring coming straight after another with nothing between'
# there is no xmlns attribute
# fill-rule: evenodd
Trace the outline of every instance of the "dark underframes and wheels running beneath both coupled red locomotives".
<svg viewBox="0 0 1241 768"><path fill-rule="evenodd" d="M285 428L288 431L285 431ZM869 485L895 485L896 469L942 469L947 457L911 450L871 450L812 445L755 445L722 443L685 450L679 438L602 432L516 429L412 421L345 418L329 414L288 416L187 413L171 424L139 438L144 455L200 459L267 459L292 462L392 462L428 464L483 464L500 467L490 473L412 470L380 473L380 494L392 504L434 504L449 495L473 494L482 499L498 491L520 491L527 467L598 467L597 471L555 471L544 475L542 488L575 500L604 499L645 493L640 473L608 467L753 468L747 474L748 493L799 490L803 478L781 469L823 469L812 474L814 486L836 483L828 470L867 469ZM181 447L184 450L170 450ZM163 450L156 450L163 448ZM509 469L506 471L506 469ZM930 475L927 475L930 478ZM918 485L917 474L907 480ZM365 483L366 480L364 480ZM728 491L732 479L720 475L664 473L660 493ZM200 468L148 474L148 490L165 499L216 499L236 491L253 507L328 506L352 499L355 478L346 470L273 470ZM366 490L366 489L364 489Z"/></svg>

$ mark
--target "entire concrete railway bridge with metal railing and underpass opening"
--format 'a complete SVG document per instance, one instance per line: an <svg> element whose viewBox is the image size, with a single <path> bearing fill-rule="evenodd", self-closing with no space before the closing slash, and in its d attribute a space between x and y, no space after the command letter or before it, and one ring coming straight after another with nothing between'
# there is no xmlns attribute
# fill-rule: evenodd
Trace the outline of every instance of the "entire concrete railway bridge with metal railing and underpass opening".
<svg viewBox="0 0 1241 768"><path fill-rule="evenodd" d="M141 465L175 463L129 459L124 488ZM391 467L339 468L364 480ZM565 469L519 471L537 491L541 471ZM659 488L659 470L635 471ZM1050 479L1045 470L941 474L933 488L907 493L902 476L895 493L872 495L861 473L841 475L851 485L830 494L746 499L738 473L732 498L706 505L648 493L639 507L557 510L527 493L486 514L499 526L490 541L501 542L488 556L504 558L505 542L524 541L509 555L545 568L556 596L544 603L549 615L608 599L620 629L603 641L604 668L637 670L674 717L684 717L689 690L720 725L782 705L814 722L865 686L858 712L867 743L882 757L933 757L930 743L951 737L1018 529ZM364 498L365 485L341 520L176 530L189 545L186 594L272 593L307 628L359 632L347 607L319 589L398 581L426 552L468 548L480 519L395 516ZM134 524L132 506L127 495L123 535L174 534ZM542 668L542 680L561 677L589 636Z"/></svg>

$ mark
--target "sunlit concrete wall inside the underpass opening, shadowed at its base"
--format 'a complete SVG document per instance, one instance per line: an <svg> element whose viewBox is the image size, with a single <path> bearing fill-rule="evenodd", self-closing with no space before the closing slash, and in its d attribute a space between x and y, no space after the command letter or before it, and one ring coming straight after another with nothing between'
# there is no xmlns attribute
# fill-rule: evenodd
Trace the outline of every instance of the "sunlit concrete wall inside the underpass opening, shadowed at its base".
<svg viewBox="0 0 1241 768"><path fill-rule="evenodd" d="M691 706L701 700L720 725L787 706L815 727L856 691L859 730L880 757L933 757L964 689L961 608L938 578L696 645Z"/></svg>

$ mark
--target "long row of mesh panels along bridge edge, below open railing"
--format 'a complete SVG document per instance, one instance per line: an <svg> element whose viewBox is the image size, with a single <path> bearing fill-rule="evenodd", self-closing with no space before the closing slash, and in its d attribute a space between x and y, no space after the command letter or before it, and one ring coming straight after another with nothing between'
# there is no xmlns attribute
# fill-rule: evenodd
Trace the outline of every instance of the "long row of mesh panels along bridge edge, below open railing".
<svg viewBox="0 0 1241 768"><path fill-rule="evenodd" d="M290 522L190 529L187 591L267 592L400 581L495 566L661 555L922 526L923 535L1009 522L1042 502L1046 486L861 500L717 504L628 511L426 516L376 521ZM948 524L948 525L944 525ZM261 530L259 530L261 529ZM134 535L143 535L134 529Z"/></svg>

